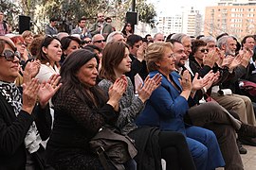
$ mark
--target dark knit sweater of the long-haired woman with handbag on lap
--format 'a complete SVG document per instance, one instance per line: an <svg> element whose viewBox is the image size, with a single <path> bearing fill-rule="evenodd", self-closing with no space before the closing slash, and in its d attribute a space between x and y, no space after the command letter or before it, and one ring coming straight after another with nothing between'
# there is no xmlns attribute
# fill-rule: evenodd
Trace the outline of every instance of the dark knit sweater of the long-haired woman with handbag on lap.
<svg viewBox="0 0 256 170"><path fill-rule="evenodd" d="M79 159L84 162L84 169L101 167L98 156L90 151L89 141L102 126L115 123L118 115L107 104L101 109L89 106L73 90L56 93L54 126L46 146L47 161L60 169L65 166L76 169L72 163L80 162Z"/></svg>

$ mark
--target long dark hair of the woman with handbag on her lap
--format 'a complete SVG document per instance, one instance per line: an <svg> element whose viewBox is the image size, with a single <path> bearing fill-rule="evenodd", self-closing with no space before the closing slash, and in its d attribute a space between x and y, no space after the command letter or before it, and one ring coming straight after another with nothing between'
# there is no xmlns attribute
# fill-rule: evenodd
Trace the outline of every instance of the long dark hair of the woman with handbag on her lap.
<svg viewBox="0 0 256 170"><path fill-rule="evenodd" d="M79 49L71 53L69 57L64 60L60 71L63 86L58 93L64 94L72 90L72 92L83 102L87 103L89 107L100 108L106 101L106 96L102 93L101 89L98 85L89 87L83 84L77 77L77 73L81 67L93 58L97 59L99 63L97 55L88 50ZM58 95L58 93L55 95Z"/></svg>

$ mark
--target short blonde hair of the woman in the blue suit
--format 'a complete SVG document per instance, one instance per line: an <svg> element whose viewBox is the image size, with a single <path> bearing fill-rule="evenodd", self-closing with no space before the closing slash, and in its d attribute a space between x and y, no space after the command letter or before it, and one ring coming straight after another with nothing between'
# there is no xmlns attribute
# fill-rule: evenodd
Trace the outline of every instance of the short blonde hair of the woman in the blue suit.
<svg viewBox="0 0 256 170"><path fill-rule="evenodd" d="M160 61L167 49L173 49L173 44L171 42L154 42L148 46L145 54L145 60L147 63L147 68L149 72L158 69L155 62Z"/></svg>

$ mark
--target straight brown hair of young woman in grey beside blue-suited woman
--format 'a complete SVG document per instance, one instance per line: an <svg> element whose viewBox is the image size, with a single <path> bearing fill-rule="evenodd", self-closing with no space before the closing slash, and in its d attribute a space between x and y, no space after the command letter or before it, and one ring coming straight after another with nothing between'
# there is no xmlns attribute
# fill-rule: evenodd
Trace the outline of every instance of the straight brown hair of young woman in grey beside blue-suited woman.
<svg viewBox="0 0 256 170"><path fill-rule="evenodd" d="M106 44L102 52L101 78L106 78L113 82L116 80L114 68L117 68L124 58L125 48L128 48L128 46L123 42L108 42Z"/></svg>

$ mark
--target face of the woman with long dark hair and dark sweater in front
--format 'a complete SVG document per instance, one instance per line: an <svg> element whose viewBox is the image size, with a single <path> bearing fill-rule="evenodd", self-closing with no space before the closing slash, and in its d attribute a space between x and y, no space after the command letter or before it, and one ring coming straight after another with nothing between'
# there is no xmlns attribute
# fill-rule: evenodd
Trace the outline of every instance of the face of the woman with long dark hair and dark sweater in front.
<svg viewBox="0 0 256 170"><path fill-rule="evenodd" d="M90 59L79 69L77 73L78 79L82 84L88 86L95 86L98 76L98 63L95 58Z"/></svg>

